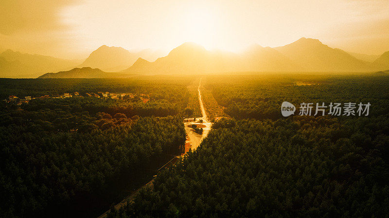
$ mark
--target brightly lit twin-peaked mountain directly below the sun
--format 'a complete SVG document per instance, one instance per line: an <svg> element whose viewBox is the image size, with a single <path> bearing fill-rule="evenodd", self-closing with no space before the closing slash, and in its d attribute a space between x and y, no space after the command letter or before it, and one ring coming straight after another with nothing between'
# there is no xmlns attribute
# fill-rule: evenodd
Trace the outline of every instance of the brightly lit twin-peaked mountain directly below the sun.
<svg viewBox="0 0 389 218"><path fill-rule="evenodd" d="M143 74L198 74L236 71L301 70L289 58L269 47L254 45L242 54L210 51L193 42L186 42L155 62L138 59L127 73Z"/></svg>

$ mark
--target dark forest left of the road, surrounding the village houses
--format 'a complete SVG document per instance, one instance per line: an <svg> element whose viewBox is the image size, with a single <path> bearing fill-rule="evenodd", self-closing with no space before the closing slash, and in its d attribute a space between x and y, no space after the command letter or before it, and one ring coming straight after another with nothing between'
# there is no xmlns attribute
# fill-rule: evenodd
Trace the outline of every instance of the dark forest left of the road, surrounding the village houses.
<svg viewBox="0 0 389 218"><path fill-rule="evenodd" d="M97 217L180 155L190 80L154 79L0 80L3 96L84 88L150 98L0 101L1 217Z"/></svg>

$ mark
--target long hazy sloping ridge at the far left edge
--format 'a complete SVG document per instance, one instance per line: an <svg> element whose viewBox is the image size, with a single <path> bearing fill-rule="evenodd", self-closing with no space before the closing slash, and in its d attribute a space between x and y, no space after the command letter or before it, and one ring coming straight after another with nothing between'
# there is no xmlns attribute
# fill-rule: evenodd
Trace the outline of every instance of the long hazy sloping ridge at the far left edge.
<svg viewBox="0 0 389 218"><path fill-rule="evenodd" d="M0 53L0 77L36 77L45 72L68 70L78 61L6 50Z"/></svg>

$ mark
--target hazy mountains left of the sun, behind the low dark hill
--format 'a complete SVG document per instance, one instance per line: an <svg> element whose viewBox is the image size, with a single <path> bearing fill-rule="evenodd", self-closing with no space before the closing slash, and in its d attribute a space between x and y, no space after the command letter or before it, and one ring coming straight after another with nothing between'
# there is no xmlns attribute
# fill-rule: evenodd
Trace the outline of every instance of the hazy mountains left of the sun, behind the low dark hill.
<svg viewBox="0 0 389 218"><path fill-rule="evenodd" d="M121 47L104 45L94 50L83 61L6 50L0 53L0 78L36 78L44 73L66 71L74 67L100 68L106 72L119 72L132 66L139 57L154 61L160 54L159 50L129 52Z"/></svg>

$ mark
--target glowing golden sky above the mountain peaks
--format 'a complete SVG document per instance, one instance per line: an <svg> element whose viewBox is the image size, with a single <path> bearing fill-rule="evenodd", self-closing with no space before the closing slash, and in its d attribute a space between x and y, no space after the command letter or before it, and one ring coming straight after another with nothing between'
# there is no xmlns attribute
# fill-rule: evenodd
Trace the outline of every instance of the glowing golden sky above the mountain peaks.
<svg viewBox="0 0 389 218"><path fill-rule="evenodd" d="M380 55L389 0L0 0L0 50L83 59L102 45L169 51L192 41L238 52L301 37Z"/></svg>

